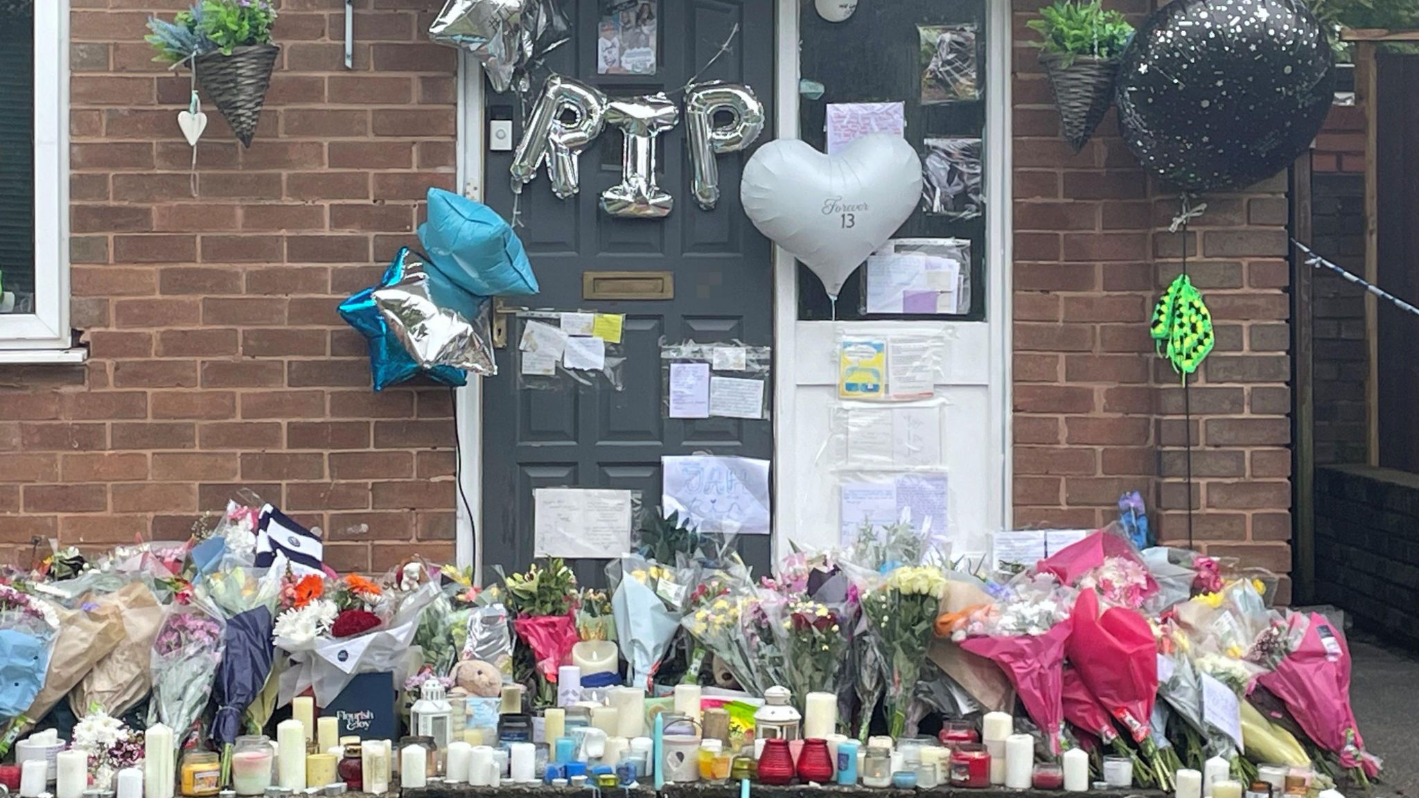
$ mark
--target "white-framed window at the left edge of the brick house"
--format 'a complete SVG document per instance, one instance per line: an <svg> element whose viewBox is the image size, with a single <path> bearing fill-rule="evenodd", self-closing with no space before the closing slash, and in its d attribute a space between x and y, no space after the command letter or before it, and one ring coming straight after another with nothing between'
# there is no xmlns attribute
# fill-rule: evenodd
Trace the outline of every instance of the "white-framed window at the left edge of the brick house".
<svg viewBox="0 0 1419 798"><path fill-rule="evenodd" d="M67 20L0 0L0 362L70 359Z"/></svg>

